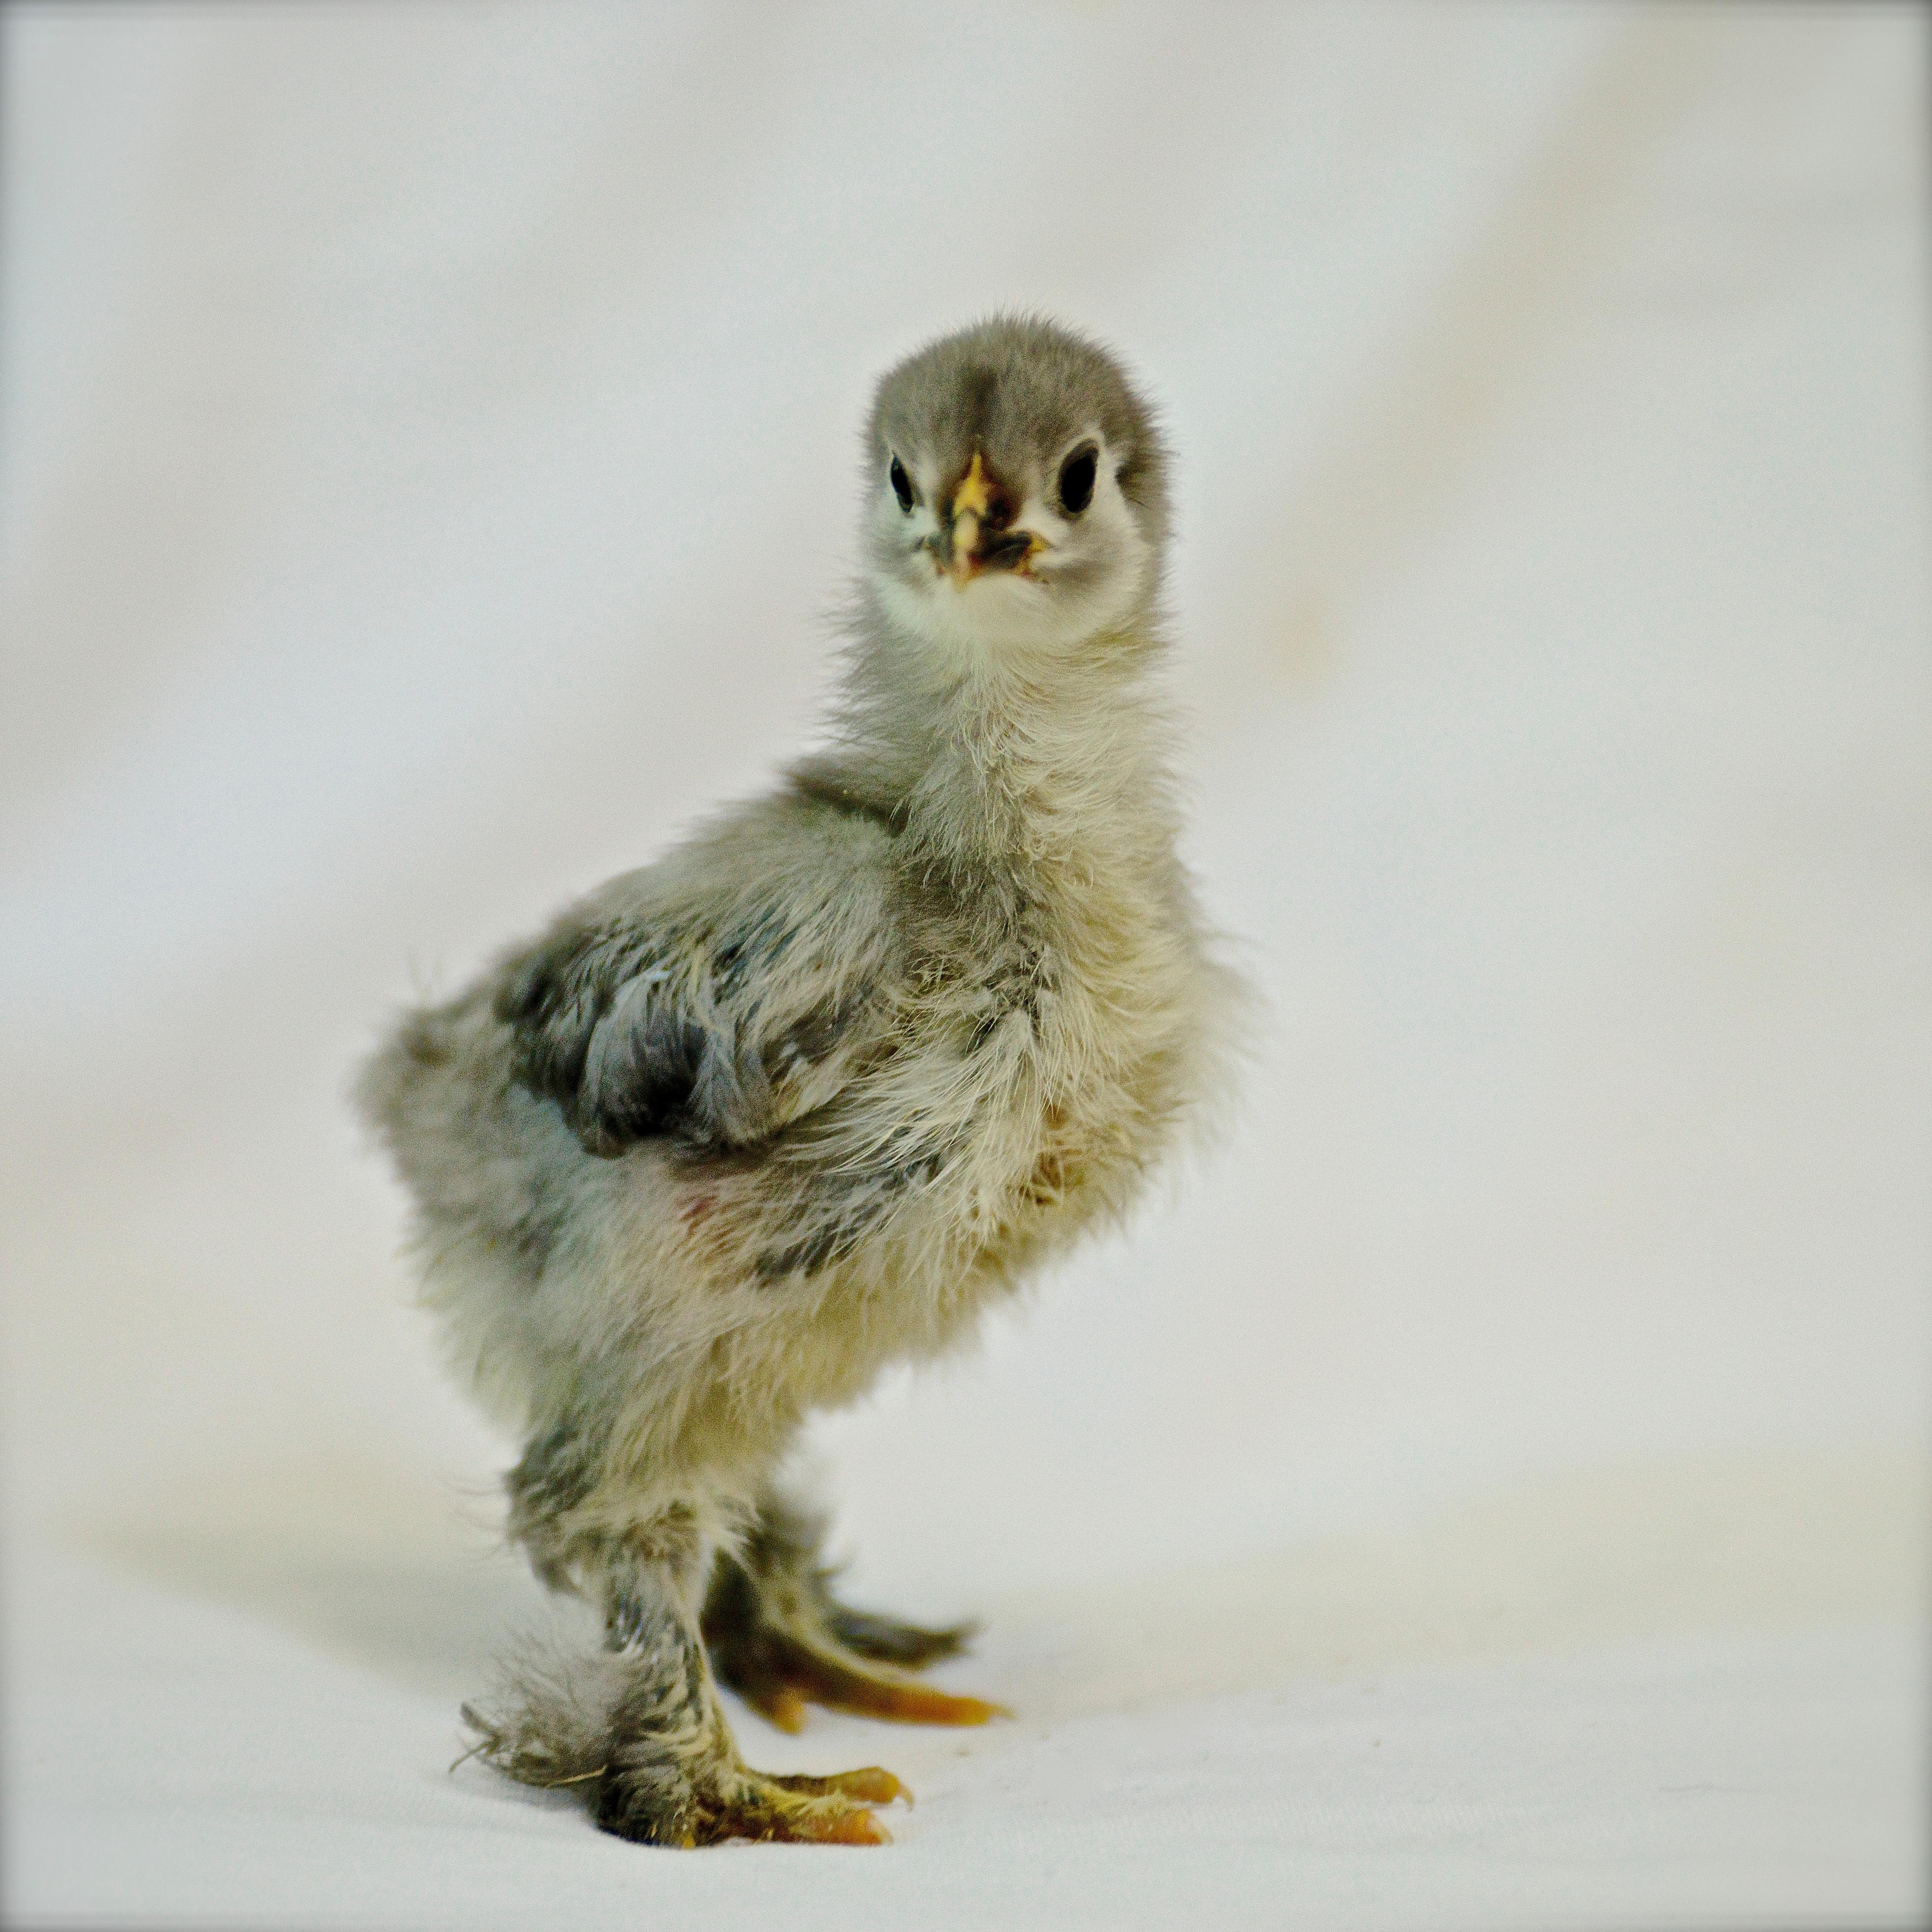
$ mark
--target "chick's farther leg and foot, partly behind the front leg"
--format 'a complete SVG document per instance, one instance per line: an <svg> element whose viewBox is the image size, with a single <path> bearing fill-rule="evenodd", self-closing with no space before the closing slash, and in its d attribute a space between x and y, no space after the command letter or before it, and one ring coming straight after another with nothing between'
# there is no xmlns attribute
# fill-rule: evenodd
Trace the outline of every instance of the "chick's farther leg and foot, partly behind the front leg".
<svg viewBox="0 0 1932 1932"><path fill-rule="evenodd" d="M949 1696L910 1681L960 1652L970 1625L927 1631L848 1609L819 1561L823 1524L767 1492L744 1548L719 1551L703 1609L703 1638L719 1677L781 1731L798 1731L806 1704L900 1723L985 1723L999 1704Z"/></svg>

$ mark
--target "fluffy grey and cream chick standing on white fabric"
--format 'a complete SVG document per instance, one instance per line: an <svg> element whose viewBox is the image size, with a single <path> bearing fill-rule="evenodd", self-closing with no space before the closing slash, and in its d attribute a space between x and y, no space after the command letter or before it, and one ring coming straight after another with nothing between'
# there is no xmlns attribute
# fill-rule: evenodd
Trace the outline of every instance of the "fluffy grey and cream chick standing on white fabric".
<svg viewBox="0 0 1932 1932"><path fill-rule="evenodd" d="M510 1532L607 1631L466 1718L622 1837L883 1841L898 1781L748 1770L721 1679L788 1729L995 1712L910 1675L962 1631L831 1596L775 1470L1121 1215L1223 1084L1165 545L1161 439L1092 342L1001 317L910 355L866 429L831 748L363 1068L425 1302L526 1443Z"/></svg>

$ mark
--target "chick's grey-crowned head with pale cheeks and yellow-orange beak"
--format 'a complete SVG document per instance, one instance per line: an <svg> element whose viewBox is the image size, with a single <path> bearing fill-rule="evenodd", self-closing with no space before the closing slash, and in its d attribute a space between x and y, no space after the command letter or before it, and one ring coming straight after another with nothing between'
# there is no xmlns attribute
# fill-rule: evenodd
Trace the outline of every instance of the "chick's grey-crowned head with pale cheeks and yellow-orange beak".
<svg viewBox="0 0 1932 1932"><path fill-rule="evenodd" d="M949 655L1072 649L1157 589L1167 462L1103 350L995 317L908 355L866 429L867 587Z"/></svg>

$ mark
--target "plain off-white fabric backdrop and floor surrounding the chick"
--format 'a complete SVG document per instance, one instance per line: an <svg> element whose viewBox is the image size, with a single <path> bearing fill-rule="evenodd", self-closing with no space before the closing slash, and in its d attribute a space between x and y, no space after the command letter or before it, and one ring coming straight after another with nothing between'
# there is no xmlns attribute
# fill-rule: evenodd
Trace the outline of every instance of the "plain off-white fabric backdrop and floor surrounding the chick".
<svg viewBox="0 0 1932 1932"><path fill-rule="evenodd" d="M1909 10L4 15L10 1922L1917 1922ZM1227 1148L817 1428L887 1853L454 1777L533 1586L346 1068L810 734L896 354L1179 452Z"/></svg>

